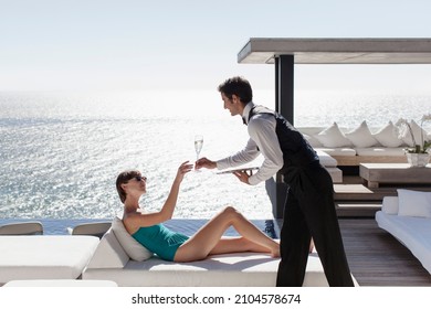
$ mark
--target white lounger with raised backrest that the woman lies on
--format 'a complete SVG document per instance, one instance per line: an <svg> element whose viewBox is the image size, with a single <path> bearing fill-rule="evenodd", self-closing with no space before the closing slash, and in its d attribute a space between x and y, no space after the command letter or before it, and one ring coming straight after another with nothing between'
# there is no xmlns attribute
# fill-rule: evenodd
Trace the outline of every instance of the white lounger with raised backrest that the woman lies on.
<svg viewBox="0 0 431 309"><path fill-rule="evenodd" d="M82 275L83 280L112 280L118 286L275 286L278 258L267 254L214 255L193 263L171 263L156 256L129 257L111 228ZM308 258L304 286L327 286L318 256Z"/></svg>

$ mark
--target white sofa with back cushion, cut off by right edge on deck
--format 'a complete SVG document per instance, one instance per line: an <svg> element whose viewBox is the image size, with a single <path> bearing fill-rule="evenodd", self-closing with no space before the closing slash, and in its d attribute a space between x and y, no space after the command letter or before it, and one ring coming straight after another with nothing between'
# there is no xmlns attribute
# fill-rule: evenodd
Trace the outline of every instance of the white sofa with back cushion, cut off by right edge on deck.
<svg viewBox="0 0 431 309"><path fill-rule="evenodd" d="M398 190L398 196L385 196L376 221L431 274L431 192Z"/></svg>

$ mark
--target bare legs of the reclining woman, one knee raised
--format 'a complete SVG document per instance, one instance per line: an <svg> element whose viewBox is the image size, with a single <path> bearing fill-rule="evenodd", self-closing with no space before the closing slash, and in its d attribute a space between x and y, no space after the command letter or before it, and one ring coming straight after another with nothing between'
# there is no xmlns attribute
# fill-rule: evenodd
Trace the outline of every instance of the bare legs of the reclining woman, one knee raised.
<svg viewBox="0 0 431 309"><path fill-rule="evenodd" d="M221 239L230 226L233 226L242 238ZM178 248L175 260L191 262L203 259L210 254L264 252L265 248L273 256L280 255L276 242L266 236L235 209L228 206Z"/></svg>

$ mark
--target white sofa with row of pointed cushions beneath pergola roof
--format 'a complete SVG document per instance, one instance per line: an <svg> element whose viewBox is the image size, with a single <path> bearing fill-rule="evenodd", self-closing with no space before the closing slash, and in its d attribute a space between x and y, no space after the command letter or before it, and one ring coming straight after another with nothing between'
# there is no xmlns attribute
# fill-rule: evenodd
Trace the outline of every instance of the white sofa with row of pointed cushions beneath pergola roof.
<svg viewBox="0 0 431 309"><path fill-rule="evenodd" d="M389 122L382 128L368 128L362 121L357 128L329 127L297 128L317 151L323 151L337 161L338 167L360 163L407 163L404 149L412 145L411 137L398 138L395 126ZM413 132L420 140L420 131ZM431 140L431 132L424 131L424 139Z"/></svg>

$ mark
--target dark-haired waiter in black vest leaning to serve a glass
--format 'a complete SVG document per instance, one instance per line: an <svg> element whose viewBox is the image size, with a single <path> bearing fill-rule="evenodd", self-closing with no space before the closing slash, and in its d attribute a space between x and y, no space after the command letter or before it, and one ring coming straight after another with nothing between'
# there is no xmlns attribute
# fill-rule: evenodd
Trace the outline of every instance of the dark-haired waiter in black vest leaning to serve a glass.
<svg viewBox="0 0 431 309"><path fill-rule="evenodd" d="M283 116L253 103L252 87L245 78L229 78L218 90L224 109L231 116L241 115L250 139L235 154L218 161L201 158L196 168L234 168L262 153L264 161L259 171L250 175L234 172L238 179L255 185L276 172L283 174L287 194L276 285L303 285L313 238L329 286L354 286L335 212L333 181L312 146Z"/></svg>

